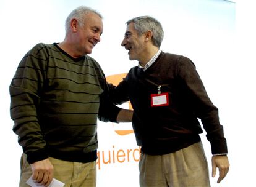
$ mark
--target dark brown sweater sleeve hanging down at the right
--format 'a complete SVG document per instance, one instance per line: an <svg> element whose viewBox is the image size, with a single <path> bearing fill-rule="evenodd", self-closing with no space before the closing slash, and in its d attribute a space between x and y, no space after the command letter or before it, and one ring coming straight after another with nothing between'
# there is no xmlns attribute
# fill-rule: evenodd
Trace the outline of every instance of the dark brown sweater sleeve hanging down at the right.
<svg viewBox="0 0 256 187"><path fill-rule="evenodd" d="M208 97L194 63L189 58L181 57L177 74L184 82L195 115L201 119L203 128L207 132L207 140L211 143L212 154L228 153L223 126L219 121L218 108Z"/></svg>

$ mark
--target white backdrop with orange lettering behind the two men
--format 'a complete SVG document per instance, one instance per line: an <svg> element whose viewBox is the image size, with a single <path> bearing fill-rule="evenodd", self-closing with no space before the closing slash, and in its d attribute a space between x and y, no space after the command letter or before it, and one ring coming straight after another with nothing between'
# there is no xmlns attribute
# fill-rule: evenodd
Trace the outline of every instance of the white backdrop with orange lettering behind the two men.
<svg viewBox="0 0 256 187"><path fill-rule="evenodd" d="M64 39L65 19L81 4L99 10L104 17L101 42L91 56L108 77L126 73L137 65L121 47L125 22L139 15L151 15L160 20L164 28L161 49L185 55L195 63L208 95L220 110L231 168L220 185L216 183L217 177L211 178L211 186L253 186L256 167L252 144L256 130L254 6L252 1L235 4L223 0L1 0L1 186L18 186L19 183L22 149L12 132L13 122L9 117L12 76L32 46ZM139 186L139 150L134 133L117 133L130 129L130 124L99 122L99 187ZM202 141L211 173L210 143L205 134Z"/></svg>

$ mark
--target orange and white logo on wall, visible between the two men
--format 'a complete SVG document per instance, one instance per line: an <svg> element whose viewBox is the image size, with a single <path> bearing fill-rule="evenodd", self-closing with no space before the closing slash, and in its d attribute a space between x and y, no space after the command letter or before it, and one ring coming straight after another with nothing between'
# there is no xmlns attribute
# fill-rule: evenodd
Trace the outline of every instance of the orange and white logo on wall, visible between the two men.
<svg viewBox="0 0 256 187"><path fill-rule="evenodd" d="M106 77L106 81L108 81L109 83L113 84L114 86L117 86L117 84L119 84L119 82L122 81L122 79L126 76L127 73L121 73L121 74L114 74L111 76L107 76ZM130 105L130 101L127 103L124 103L123 105L128 105L128 107L126 109L132 109L132 105ZM132 130L131 125L129 125L129 127L127 127L128 125L126 123L122 123L122 124L114 124L113 123L113 127L114 127L114 132L116 132L118 135L128 135L130 133L134 133L134 130Z"/></svg>

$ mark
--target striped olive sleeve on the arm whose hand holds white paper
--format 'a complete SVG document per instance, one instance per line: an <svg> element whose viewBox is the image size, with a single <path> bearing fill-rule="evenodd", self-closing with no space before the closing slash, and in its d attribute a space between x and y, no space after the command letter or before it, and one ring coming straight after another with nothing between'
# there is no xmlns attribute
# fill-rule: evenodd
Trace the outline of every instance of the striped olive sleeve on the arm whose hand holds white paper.
<svg viewBox="0 0 256 187"><path fill-rule="evenodd" d="M13 130L30 164L48 157L37 115L47 60L43 47L38 44L22 58L9 87Z"/></svg>

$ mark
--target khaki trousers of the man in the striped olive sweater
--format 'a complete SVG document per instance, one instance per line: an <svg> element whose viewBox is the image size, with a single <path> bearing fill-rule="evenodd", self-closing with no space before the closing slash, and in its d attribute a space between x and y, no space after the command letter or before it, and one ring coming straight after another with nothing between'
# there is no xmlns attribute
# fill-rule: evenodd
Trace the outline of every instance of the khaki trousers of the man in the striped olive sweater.
<svg viewBox="0 0 256 187"><path fill-rule="evenodd" d="M68 162L49 157L54 167L54 176L64 187L95 187L96 186L96 161L88 163ZM32 175L27 156L23 153L20 161L20 185L19 187L29 187L26 181Z"/></svg>

